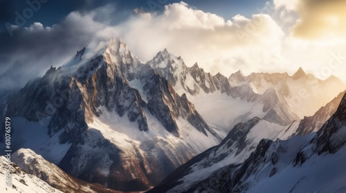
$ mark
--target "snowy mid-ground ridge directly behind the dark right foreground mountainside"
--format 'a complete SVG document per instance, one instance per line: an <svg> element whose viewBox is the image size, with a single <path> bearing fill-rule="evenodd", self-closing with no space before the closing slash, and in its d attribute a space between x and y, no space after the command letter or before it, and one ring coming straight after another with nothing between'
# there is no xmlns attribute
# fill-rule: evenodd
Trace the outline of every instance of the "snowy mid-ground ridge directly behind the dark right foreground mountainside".
<svg viewBox="0 0 346 193"><path fill-rule="evenodd" d="M299 122L294 121L291 125L282 126L257 117L247 123L239 123L219 145L195 156L176 169L152 192L188 191L189 187L208 179L208 176L221 168L243 163L262 139L288 139L298 128L298 124Z"/></svg>

